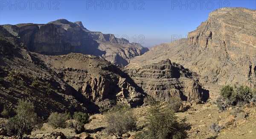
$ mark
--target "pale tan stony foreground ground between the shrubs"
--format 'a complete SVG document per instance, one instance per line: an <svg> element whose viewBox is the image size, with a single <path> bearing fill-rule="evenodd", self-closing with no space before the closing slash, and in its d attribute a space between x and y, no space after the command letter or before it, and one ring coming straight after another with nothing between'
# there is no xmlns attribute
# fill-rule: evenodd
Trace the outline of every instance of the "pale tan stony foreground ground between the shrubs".
<svg viewBox="0 0 256 139"><path fill-rule="evenodd" d="M176 113L179 119L186 117L191 129L187 131L188 139L256 139L256 104L246 104L241 108L229 108L226 111L219 111L216 104L192 104L185 103L189 109L184 112ZM137 117L137 126L143 125L147 106L133 108L134 116ZM91 122L86 124L87 133L94 139L113 139L113 135L106 133L105 127L108 125L105 114L94 114L90 116ZM220 133L211 130L210 125L216 123L224 128ZM76 135L73 128L51 128L47 123L41 130L33 131L30 137L41 138L49 135L53 131L62 132L65 136ZM130 138L136 139L133 135L136 132L129 132Z"/></svg>

